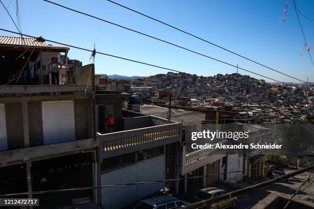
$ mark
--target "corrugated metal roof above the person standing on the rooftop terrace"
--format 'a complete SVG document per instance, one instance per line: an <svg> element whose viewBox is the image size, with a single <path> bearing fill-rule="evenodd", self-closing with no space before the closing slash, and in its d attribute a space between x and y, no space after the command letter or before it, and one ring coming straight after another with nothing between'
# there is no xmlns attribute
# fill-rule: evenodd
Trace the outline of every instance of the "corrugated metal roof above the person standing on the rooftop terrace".
<svg viewBox="0 0 314 209"><path fill-rule="evenodd" d="M69 49L67 46L53 46L51 44L47 44L46 41L42 43L40 41L36 41L36 38L23 39L22 37L0 36L0 45Z"/></svg>

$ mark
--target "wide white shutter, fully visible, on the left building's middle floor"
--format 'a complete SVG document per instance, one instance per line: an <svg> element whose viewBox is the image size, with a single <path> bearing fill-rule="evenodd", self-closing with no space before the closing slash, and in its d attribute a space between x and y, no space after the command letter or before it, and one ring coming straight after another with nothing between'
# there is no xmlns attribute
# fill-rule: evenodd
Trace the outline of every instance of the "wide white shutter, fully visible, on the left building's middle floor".
<svg viewBox="0 0 314 209"><path fill-rule="evenodd" d="M74 101L43 101L44 144L75 140Z"/></svg>

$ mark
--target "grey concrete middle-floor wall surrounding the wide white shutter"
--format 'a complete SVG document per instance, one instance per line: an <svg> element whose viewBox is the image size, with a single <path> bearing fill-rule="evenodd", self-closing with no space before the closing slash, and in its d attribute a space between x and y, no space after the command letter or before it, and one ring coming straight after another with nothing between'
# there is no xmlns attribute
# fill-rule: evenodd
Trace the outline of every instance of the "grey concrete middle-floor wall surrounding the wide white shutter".
<svg viewBox="0 0 314 209"><path fill-rule="evenodd" d="M48 100L74 100L75 139L92 138L93 114L91 98L81 99L78 97L78 99L75 99L76 97L72 95L66 99L62 99L63 96L64 95L57 97L46 96L43 99L28 97L29 100L25 101L21 99L25 106L22 105L21 101L14 102L15 100L18 101L18 97L6 97L7 101L5 102L5 107L8 149L12 150L43 144L42 101ZM23 107L25 108L24 115Z"/></svg>

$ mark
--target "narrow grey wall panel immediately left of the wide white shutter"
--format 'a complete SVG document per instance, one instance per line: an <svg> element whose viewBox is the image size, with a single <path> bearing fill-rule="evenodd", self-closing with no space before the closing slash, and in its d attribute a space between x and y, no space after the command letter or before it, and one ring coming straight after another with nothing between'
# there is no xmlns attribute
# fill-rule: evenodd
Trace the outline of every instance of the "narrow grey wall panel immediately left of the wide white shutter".
<svg viewBox="0 0 314 209"><path fill-rule="evenodd" d="M44 143L42 102L28 102L28 131L31 146Z"/></svg>

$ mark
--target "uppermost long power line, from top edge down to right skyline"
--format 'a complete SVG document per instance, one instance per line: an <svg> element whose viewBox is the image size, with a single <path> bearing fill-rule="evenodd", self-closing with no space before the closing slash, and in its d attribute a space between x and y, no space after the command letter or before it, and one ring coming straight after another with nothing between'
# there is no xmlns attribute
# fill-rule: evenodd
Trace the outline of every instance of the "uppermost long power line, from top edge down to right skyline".
<svg viewBox="0 0 314 209"><path fill-rule="evenodd" d="M46 0L44 0L44 1L46 1ZM261 64L260 62L254 61L253 59L247 58L247 57L245 57L245 56L243 56L243 55L240 55L240 54L238 54L238 53L236 53L236 52L233 52L233 51L231 51L231 50L228 50L228 49L226 49L226 48L224 48L224 47L222 47L222 46L219 46L219 45L217 45L217 44L212 43L211 41L208 41L208 40L206 40L206 39L204 39L204 38L201 38L201 37L199 37L199 36L197 36L197 35L191 34L191 33L187 32L187 31L184 31L184 30L182 30L182 29L180 29L180 28L174 27L174 26L172 26L172 25L170 25L170 24L168 24L168 23L165 23L165 22L163 22L163 21L161 21L161 20L159 20L159 19L156 19L156 18L154 18L154 17L151 17L151 16L149 16L149 15L147 15L147 14L144 14L144 13L142 13L142 12L136 11L136 10L134 10L134 9L131 9L131 8L126 7L126 6L124 6L124 5L121 5L121 4L119 4L119 3L113 2L113 1L111 1L111 0L107 0L107 1L108 1L108 2L111 2L111 3L115 4L115 5L118 5L118 6L120 6L120 7L123 7L123 8L125 8L125 9L128 9L128 10L130 10L130 11L132 11L132 12L135 12L135 13L138 13L138 14L140 14L140 15L143 15L143 16L145 16L145 17L147 17L147 18L152 19L152 20L155 20L156 22L159 22L159 23L161 23L161 24L163 24L163 25L166 25L166 26L168 26L168 27L170 27L170 28L173 28L173 29L175 29L175 30L178 30L178 31L180 31L180 32L182 32L182 33L185 33L185 34L187 34L187 35L190 35L190 36L192 36L192 37L194 37L194 38L197 38L197 39L199 39L199 40L205 41L205 42L208 43L208 44L211 44L211 45L213 45L213 46L215 46L215 47L218 47L218 48L220 48L220 49L223 49L223 50L225 50L225 51L227 51L227 52L230 52L230 53L232 53L232 54L234 54L234 55L237 55L237 56L239 56L239 57L242 57L242 58L244 58L244 59L247 59L247 60L249 60L249 61L251 61L251 62L254 62L255 64L258 64L258 65L260 65L260 66L262 66L262 67L268 68L268 69L270 69L270 70L272 70L272 71L278 72L278 73L280 73L280 74L282 74L282 75L285 75L285 76L288 76L288 77L290 77L290 78L299 80L299 81L301 81L301 82L308 83L308 82L303 81L303 80L301 80L301 79L299 79L299 78L296 78L296 77L287 75L287 74L285 74L285 73L283 73L283 72L280 72L280 71L275 70L275 69L273 69L273 68L267 67L267 66ZM46 2L48 2L48 1L46 1ZM241 68L240 68L240 69L241 69ZM237 68L237 72L238 72L238 68ZM308 84L310 84L310 83L308 83ZM310 84L310 85L311 85L311 84Z"/></svg>

